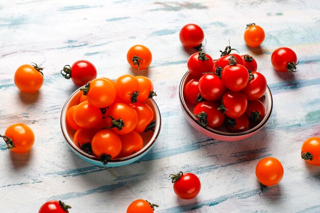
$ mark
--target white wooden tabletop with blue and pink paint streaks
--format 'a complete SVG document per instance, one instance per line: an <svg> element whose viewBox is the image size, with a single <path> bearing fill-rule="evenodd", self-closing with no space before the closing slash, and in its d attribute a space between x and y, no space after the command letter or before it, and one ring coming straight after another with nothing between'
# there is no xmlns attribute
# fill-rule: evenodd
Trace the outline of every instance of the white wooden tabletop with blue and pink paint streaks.
<svg viewBox="0 0 320 213"><path fill-rule="evenodd" d="M125 212L136 199L159 205L156 212L320 212L320 168L300 157L305 139L320 135L320 4L317 1L33 1L0 2L0 132L14 123L29 125L32 150L15 154L0 145L0 212L37 212L48 200L72 205L70 212ZM230 40L252 54L273 94L267 125L241 141L217 141L197 133L179 106L178 85L193 53L179 41L187 23L204 30L205 51L219 56ZM245 25L266 32L260 48L243 40ZM127 50L144 44L153 54L148 71L136 72ZM299 71L277 73L270 55L293 49ZM60 112L77 88L60 75L65 64L92 61L98 77L145 75L153 83L162 130L152 150L138 162L101 168L78 158L60 130ZM21 64L44 67L37 93L21 93L13 76ZM278 158L282 181L260 196L257 162ZM193 172L200 194L178 199L169 174Z"/></svg>

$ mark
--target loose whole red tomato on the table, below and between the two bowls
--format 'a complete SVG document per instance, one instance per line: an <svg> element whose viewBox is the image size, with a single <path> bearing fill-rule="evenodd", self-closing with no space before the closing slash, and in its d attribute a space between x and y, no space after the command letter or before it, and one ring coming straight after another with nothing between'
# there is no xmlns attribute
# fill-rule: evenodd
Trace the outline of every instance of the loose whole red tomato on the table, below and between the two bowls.
<svg viewBox="0 0 320 213"><path fill-rule="evenodd" d="M199 178L192 173L179 172L176 175L170 175L175 194L182 199L195 198L200 190L201 183Z"/></svg>

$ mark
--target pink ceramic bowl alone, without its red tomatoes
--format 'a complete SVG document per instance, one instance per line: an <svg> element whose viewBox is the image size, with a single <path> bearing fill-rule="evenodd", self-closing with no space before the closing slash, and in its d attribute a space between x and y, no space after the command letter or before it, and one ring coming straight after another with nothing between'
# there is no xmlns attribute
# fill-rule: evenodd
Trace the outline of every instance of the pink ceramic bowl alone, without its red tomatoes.
<svg viewBox="0 0 320 213"><path fill-rule="evenodd" d="M265 116L258 125L250 128L247 131L237 132L237 133L228 132L224 127L221 127L218 130L211 129L210 127L203 127L200 124L200 122L196 119L195 115L193 114L194 105L187 103L184 98L185 84L192 78L193 77L189 74L189 71L184 75L184 77L182 77L179 85L179 99L180 99L182 112L184 112L187 121L198 132L217 140L224 140L224 141L241 140L256 134L267 123L272 111L272 95L269 87L267 87L264 93L264 96L259 99L264 104Z"/></svg>

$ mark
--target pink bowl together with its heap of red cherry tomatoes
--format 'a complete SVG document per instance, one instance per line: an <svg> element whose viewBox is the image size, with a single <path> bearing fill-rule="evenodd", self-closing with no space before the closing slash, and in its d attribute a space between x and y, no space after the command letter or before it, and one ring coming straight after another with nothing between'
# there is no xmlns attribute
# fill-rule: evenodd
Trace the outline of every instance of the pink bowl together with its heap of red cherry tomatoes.
<svg viewBox="0 0 320 213"><path fill-rule="evenodd" d="M255 59L231 50L227 46L218 60L201 51L191 55L179 85L182 112L191 126L224 141L254 135L272 111L272 95Z"/></svg>

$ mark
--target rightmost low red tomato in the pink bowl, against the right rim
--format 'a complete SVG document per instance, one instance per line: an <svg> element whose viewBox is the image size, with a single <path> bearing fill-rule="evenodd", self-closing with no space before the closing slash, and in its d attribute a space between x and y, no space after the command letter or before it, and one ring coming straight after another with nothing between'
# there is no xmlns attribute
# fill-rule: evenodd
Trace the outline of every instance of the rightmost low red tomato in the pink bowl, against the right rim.
<svg viewBox="0 0 320 213"><path fill-rule="evenodd" d="M265 108L261 101L254 100L248 101L247 110L245 116L253 122L261 122L265 114Z"/></svg>

